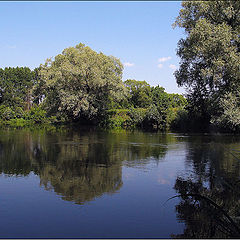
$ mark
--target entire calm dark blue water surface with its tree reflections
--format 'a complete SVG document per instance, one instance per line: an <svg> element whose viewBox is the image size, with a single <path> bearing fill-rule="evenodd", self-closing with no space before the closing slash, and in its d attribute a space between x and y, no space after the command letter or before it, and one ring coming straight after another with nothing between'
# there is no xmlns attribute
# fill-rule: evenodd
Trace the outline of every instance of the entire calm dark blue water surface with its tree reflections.
<svg viewBox="0 0 240 240"><path fill-rule="evenodd" d="M240 236L237 136L1 130L0 171L1 238Z"/></svg>

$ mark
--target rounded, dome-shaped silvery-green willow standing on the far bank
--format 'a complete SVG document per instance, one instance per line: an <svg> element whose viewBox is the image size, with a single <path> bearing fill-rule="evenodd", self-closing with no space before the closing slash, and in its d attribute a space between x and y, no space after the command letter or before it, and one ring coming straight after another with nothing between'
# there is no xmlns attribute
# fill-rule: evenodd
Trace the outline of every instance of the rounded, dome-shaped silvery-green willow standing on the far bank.
<svg viewBox="0 0 240 240"><path fill-rule="evenodd" d="M99 119L109 101L119 100L124 93L120 60L81 43L40 68L48 112L71 120Z"/></svg>

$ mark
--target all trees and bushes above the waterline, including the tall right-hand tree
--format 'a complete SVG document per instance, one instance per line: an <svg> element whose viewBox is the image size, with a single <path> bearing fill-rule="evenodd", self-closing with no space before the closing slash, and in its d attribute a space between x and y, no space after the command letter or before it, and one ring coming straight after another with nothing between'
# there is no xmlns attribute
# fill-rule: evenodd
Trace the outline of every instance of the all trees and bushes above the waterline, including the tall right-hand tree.
<svg viewBox="0 0 240 240"><path fill-rule="evenodd" d="M186 94L122 81L123 65L80 43L44 64L0 68L0 126L240 132L240 3L183 1L174 75Z"/></svg>

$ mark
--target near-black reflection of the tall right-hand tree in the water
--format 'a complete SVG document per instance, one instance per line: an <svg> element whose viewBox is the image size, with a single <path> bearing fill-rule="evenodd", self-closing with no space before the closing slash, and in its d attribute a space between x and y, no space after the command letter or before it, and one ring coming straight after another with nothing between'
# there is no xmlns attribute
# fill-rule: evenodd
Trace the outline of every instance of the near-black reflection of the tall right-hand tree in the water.
<svg viewBox="0 0 240 240"><path fill-rule="evenodd" d="M223 145L224 144L224 145ZM239 145L228 139L190 138L187 166L190 176L179 176L175 190L181 201L177 218L183 234L173 238L240 237ZM235 151L234 151L235 150Z"/></svg>

